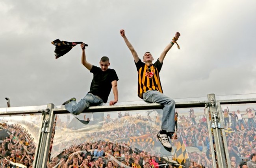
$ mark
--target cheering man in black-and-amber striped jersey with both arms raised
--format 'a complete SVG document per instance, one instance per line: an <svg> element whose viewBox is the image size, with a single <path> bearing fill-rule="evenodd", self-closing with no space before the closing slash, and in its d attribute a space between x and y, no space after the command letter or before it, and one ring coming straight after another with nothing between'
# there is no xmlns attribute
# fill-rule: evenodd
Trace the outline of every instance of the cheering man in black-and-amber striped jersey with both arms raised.
<svg viewBox="0 0 256 168"><path fill-rule="evenodd" d="M138 71L138 96L146 102L164 105L161 130L157 134L157 137L165 148L171 149L172 145L169 142L168 137L172 138L175 132L175 102L173 99L163 94L159 72L162 68L163 60L167 52L171 49L173 44L176 43L176 40L178 40L180 37L180 33L176 32L171 43L165 47L160 57L154 64L152 64L154 58L150 52L146 52L144 54L143 63L141 59L139 59L139 56L137 55L137 52L132 44L126 38L124 30L120 30L120 34L124 38L124 42L134 57L135 65Z"/></svg>

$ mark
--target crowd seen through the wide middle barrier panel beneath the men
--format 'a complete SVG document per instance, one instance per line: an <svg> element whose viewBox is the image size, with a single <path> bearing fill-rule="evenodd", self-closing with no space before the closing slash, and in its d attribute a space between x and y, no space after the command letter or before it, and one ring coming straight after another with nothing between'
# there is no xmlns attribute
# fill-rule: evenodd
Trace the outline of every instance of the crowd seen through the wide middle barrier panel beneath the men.
<svg viewBox="0 0 256 168"><path fill-rule="evenodd" d="M108 166L109 168L123 166L158 168L175 166L174 164L166 164L165 155L160 151L161 144L155 136L159 131L160 123L161 116L152 111L148 111L148 115L140 115L139 113L130 115L128 112L124 112L124 114L119 112L118 117L113 118L108 114L103 124L104 130L91 131L85 135L90 139L85 138L82 142L76 142L65 148L58 156L52 156L48 168L70 168L72 166L73 168L105 168ZM56 125L59 125L58 122ZM178 138L182 136L186 148L195 150L187 152L191 163L196 162L198 165L204 165L204 167L212 167L206 117L202 116L198 119L191 109L187 115L178 117L177 131ZM134 140L141 139L141 137L143 137L143 141ZM132 141L129 141L130 139ZM178 139L173 140L172 144L175 150ZM59 149L56 146L52 148ZM172 154L174 154L174 150ZM169 155L169 157L171 156ZM104 164L98 166L98 159L100 159L100 163L103 160ZM110 162L112 162L112 166Z"/></svg>

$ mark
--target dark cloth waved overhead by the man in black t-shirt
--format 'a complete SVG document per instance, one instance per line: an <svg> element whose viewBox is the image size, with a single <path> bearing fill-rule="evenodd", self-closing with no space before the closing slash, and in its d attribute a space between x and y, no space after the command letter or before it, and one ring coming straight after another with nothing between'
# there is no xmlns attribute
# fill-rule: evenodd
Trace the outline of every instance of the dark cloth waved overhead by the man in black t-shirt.
<svg viewBox="0 0 256 168"><path fill-rule="evenodd" d="M55 58L59 58L63 55L65 55L66 53L68 53L74 46L76 46L76 44L82 44L83 42L66 42L66 41L61 41L59 39L56 39L52 42L52 44L55 47L54 50L54 55ZM88 45L85 44L85 47L87 47Z"/></svg>

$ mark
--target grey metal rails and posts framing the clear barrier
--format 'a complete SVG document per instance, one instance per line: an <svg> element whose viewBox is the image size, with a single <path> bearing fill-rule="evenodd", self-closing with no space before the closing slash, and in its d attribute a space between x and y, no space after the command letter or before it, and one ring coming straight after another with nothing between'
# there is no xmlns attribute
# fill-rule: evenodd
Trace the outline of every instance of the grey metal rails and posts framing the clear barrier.
<svg viewBox="0 0 256 168"><path fill-rule="evenodd" d="M188 102L176 102L176 109L178 108L206 108L206 118L208 124L209 140L211 146L211 153L214 156L213 139L215 142L215 150L217 156L218 167L231 168L231 164L228 154L228 148L226 143L226 137L223 126L223 117L221 115L221 105L223 104L245 104L256 103L256 99L236 99L236 100L215 100L214 94L208 94L208 101L188 101ZM160 104L129 104L129 105L115 105L115 106L95 106L83 111L88 112L107 112L107 111L128 111L128 110L152 110L162 109ZM27 110L26 110L27 109ZM29 106L29 107L14 107L14 108L0 108L0 116L3 115L20 115L20 114L42 114L41 130L38 135L38 146L35 152L35 158L33 161L34 168L47 167L48 151L50 148L50 139L52 135L52 128L54 124L55 114L69 113L65 110L64 106L57 108L54 104L48 104L47 106ZM220 128L213 128L213 115L216 115ZM216 122L217 123L217 122ZM212 136L213 135L213 136ZM213 159L213 168L217 168L215 157Z"/></svg>

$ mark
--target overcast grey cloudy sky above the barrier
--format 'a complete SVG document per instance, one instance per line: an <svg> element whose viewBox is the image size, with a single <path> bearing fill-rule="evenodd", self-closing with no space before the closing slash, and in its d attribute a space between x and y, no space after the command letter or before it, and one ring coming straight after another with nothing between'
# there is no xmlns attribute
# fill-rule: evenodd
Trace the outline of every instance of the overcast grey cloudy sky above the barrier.
<svg viewBox="0 0 256 168"><path fill-rule="evenodd" d="M2 0L0 2L0 107L60 105L89 91L92 73L81 64L81 48L55 59L57 38L83 41L87 60L110 58L119 77L119 102L140 101L126 36L142 58L155 58L176 31L161 82L174 99L250 94L256 97L256 1ZM113 99L111 93L108 101Z"/></svg>

